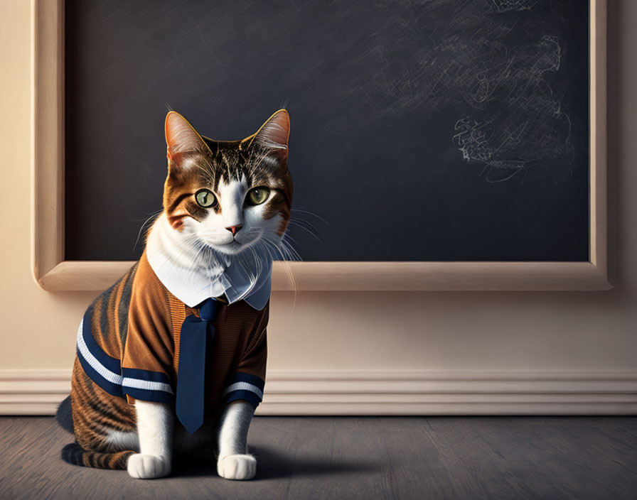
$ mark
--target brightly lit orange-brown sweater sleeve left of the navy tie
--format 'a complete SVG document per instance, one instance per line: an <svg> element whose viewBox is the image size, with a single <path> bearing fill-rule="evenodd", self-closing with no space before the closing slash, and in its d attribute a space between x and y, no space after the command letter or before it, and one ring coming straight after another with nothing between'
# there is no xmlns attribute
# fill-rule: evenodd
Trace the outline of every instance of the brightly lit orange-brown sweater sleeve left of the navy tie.
<svg viewBox="0 0 637 500"><path fill-rule="evenodd" d="M173 354L167 292L150 266L140 265L131 295L122 359L122 391L129 403L135 399L173 401Z"/></svg>

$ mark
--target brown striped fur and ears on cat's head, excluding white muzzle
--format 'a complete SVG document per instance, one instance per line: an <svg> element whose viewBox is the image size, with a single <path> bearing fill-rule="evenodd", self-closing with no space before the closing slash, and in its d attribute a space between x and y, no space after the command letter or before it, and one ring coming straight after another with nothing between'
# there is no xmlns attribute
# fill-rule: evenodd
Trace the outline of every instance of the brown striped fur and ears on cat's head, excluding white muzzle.
<svg viewBox="0 0 637 500"><path fill-rule="evenodd" d="M237 141L214 141L200 136L181 115L169 113L168 177L164 185L168 222L181 230L186 219L202 223L215 216L224 218L228 203L224 203L223 196L220 203L203 208L194 195L205 188L219 197L221 185L240 183L246 192L258 186L272 192L259 214L264 221L279 216L276 233L281 237L290 219L293 190L287 167L288 137L289 116L284 109L274 113L256 134ZM228 221L226 224L230 225ZM216 250L224 251L220 247Z"/></svg>

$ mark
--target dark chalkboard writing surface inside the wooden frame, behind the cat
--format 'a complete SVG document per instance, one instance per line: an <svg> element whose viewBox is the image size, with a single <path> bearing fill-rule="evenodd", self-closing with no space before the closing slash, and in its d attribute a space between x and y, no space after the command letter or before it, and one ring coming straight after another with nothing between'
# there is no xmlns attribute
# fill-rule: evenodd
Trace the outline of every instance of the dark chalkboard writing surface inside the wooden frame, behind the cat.
<svg viewBox="0 0 637 500"><path fill-rule="evenodd" d="M65 259L131 260L164 117L291 115L306 261L587 261L582 0L67 0Z"/></svg>

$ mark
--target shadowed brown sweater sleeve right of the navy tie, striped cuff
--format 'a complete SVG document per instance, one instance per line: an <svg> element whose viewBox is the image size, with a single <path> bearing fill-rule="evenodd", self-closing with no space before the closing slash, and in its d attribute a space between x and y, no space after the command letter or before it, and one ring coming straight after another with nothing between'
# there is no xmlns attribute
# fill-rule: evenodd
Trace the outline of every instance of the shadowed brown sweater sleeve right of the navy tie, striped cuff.
<svg viewBox="0 0 637 500"><path fill-rule="evenodd" d="M266 326L267 310L264 310L248 339L245 352L230 374L223 391L223 403L228 404L232 401L243 400L254 408L257 408L261 403L267 362Z"/></svg>

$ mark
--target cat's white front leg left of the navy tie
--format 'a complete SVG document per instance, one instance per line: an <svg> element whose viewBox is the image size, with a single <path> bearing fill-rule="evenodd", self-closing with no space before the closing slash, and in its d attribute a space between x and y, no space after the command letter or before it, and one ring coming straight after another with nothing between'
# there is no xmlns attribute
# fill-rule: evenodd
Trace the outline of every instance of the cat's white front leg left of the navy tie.
<svg viewBox="0 0 637 500"><path fill-rule="evenodd" d="M136 479L154 479L171 473L173 413L170 406L135 401L139 453L128 460L128 473Z"/></svg>

